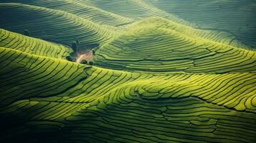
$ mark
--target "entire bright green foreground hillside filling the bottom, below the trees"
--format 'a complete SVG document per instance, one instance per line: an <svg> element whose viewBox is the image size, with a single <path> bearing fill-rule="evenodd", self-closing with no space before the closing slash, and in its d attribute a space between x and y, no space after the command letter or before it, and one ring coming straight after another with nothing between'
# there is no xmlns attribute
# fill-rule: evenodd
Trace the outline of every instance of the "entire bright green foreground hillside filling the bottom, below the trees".
<svg viewBox="0 0 256 143"><path fill-rule="evenodd" d="M4 142L255 140L255 74L153 75L0 53Z"/></svg>

